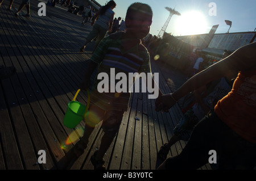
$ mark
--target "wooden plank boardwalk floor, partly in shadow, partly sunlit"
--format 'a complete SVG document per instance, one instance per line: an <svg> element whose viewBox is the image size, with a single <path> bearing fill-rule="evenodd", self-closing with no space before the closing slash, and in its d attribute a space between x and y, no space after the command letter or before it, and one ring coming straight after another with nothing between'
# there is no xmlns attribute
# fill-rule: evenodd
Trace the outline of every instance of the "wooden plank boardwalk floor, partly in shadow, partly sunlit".
<svg viewBox="0 0 256 181"><path fill-rule="evenodd" d="M14 10L20 2L14 1ZM63 118L94 47L92 43L84 53L79 52L91 26L82 26L81 16L59 5L47 6L47 15L38 16L39 2L32 1L31 18L16 18L14 10L6 10L9 1L0 11L0 65L16 68L13 76L0 81L0 170L55 169L84 126L81 123L75 129L67 128ZM152 61L151 66L153 72L159 72L164 93L185 81L181 74L158 62ZM86 104L86 92L80 92L77 101ZM129 110L105 154L107 169L155 169L156 153L172 136L182 113L179 104L168 113L155 112L154 105L155 100L147 99L147 93L132 94ZM100 145L102 133L98 125L85 153L71 169L93 169L89 158ZM68 137L72 144L67 144ZM184 146L184 141L177 142L169 156L179 154ZM46 163L38 163L39 150L46 151Z"/></svg>

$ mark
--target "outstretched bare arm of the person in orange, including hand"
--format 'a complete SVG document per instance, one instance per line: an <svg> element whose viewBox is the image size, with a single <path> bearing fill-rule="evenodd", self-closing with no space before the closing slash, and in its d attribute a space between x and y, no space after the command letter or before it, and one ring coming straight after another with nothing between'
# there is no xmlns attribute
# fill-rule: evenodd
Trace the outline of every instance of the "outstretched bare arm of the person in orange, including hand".
<svg viewBox="0 0 256 181"><path fill-rule="evenodd" d="M255 59L256 42L237 49L236 52L230 56L194 75L173 94L159 96L158 99L156 99L156 111L163 110L167 112L168 109L174 106L177 100L214 79L225 77L233 71L238 72L255 69Z"/></svg>

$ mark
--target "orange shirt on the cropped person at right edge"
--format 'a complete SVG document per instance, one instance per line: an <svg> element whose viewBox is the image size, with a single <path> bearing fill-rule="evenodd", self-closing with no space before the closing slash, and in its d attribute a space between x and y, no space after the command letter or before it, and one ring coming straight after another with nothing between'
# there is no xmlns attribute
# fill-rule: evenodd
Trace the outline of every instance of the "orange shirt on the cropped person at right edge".
<svg viewBox="0 0 256 181"><path fill-rule="evenodd" d="M233 89L218 101L215 112L245 140L256 143L256 70L242 71Z"/></svg>

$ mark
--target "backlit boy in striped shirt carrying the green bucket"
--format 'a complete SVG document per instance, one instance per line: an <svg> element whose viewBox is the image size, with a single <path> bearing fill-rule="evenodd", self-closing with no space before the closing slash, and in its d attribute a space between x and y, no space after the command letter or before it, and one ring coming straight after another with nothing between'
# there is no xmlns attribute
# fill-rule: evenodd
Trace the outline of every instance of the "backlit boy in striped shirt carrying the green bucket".
<svg viewBox="0 0 256 181"><path fill-rule="evenodd" d="M151 7L144 3L133 3L127 9L125 23L126 32L113 33L105 37L98 44L98 47L90 58L88 68L80 83L80 89L88 89L90 86L90 77L98 65L98 75L100 73L106 73L109 77L115 77L115 75L111 75L110 69L112 68L114 68L115 74L125 73L127 77L129 77L129 73L151 73L150 56L141 42L141 39L146 37L150 32L152 23ZM127 111L130 100L129 91L117 92L110 90L111 84L116 85L116 80L109 82L109 91L99 92L98 85L100 81L96 79L92 86L90 108L88 114L85 116L84 136L67 154L67 157L75 157L77 159L84 152L95 125L102 120L104 136L102 136L100 149L95 151L90 159L94 169L105 169L104 154L119 130L123 113ZM129 81L126 80L126 82Z"/></svg>

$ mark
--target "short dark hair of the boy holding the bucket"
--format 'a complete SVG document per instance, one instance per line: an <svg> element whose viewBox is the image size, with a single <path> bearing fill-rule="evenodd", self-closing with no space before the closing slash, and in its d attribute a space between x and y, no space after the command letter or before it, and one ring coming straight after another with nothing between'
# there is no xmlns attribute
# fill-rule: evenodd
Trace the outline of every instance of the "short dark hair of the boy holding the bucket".
<svg viewBox="0 0 256 181"><path fill-rule="evenodd" d="M141 2L134 2L128 7L125 19L132 20L134 18L134 14L137 14L138 12L153 15L153 11L149 5Z"/></svg>

